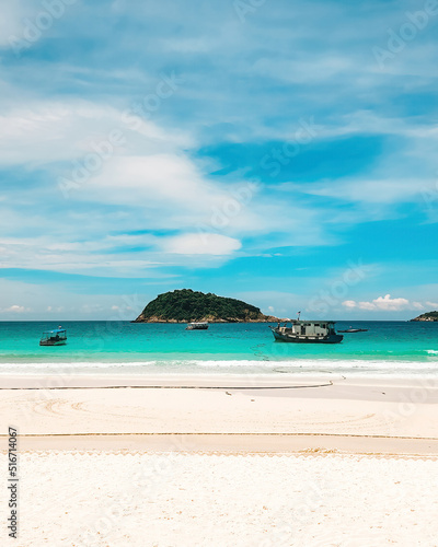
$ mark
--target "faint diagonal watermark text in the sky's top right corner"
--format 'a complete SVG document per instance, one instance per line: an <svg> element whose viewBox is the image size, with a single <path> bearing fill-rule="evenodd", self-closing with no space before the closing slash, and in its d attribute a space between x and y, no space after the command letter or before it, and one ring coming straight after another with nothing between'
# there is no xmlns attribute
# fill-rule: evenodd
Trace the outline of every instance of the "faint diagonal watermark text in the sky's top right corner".
<svg viewBox="0 0 438 547"><path fill-rule="evenodd" d="M427 0L423 10L410 12L406 11L406 21L394 31L388 28L387 47L374 46L372 54L379 68L385 68L385 62L395 58L396 55L402 53L407 43L413 42L419 32L424 31L430 23L433 18L438 15L438 0Z"/></svg>

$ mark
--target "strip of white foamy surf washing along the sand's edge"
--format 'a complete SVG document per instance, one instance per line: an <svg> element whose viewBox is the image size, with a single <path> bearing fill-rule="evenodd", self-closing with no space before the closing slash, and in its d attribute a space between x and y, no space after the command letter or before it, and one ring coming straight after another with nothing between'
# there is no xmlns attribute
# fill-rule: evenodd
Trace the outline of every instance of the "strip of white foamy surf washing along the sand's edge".
<svg viewBox="0 0 438 547"><path fill-rule="evenodd" d="M420 360L374 360L374 359L290 359L290 360L254 360L254 359L166 359L149 358L148 360L120 361L0 361L0 385L9 377L45 377L45 376L138 376L151 375L160 377L215 376L234 377L240 375L265 376L279 379L349 377L355 380L406 381L418 382L422 379L438 383L438 350L427 350L429 356Z"/></svg>

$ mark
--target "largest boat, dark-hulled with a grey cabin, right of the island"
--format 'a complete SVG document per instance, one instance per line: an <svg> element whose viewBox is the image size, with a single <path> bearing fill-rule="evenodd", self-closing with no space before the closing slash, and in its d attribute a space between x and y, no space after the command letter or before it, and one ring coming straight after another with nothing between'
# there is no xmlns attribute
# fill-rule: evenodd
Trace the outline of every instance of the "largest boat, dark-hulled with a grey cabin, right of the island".
<svg viewBox="0 0 438 547"><path fill-rule="evenodd" d="M344 337L335 330L334 321L300 321L292 319L290 326L269 326L278 341L297 344L339 344Z"/></svg>

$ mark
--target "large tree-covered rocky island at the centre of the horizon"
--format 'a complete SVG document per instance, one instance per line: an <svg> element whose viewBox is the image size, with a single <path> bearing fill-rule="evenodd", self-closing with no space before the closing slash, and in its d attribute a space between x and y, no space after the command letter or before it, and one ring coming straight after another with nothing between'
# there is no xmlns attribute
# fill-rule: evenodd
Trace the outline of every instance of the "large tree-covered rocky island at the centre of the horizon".
<svg viewBox="0 0 438 547"><path fill-rule="evenodd" d="M182 289L160 294L149 302L132 323L268 323L277 317L264 315L260 307L241 300L209 292Z"/></svg>

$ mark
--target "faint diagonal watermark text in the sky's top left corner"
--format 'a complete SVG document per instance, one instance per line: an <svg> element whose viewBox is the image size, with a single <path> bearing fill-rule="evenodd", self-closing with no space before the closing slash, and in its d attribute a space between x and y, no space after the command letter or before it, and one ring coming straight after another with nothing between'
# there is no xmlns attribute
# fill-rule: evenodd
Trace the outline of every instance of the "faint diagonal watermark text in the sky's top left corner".
<svg viewBox="0 0 438 547"><path fill-rule="evenodd" d="M62 18L69 5L78 0L43 0L41 11L33 18L23 19L23 32L21 36L9 36L9 45L13 53L20 57L23 50L36 44L51 28L55 21Z"/></svg>

